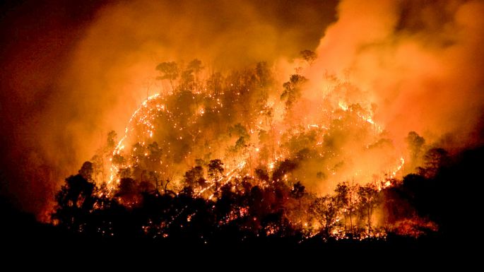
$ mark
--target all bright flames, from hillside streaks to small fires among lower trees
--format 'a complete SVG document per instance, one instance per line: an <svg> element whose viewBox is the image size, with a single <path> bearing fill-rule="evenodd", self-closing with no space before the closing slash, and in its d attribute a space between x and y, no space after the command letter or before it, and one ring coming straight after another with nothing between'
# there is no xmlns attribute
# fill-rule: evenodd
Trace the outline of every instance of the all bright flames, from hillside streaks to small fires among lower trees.
<svg viewBox="0 0 484 272"><path fill-rule="evenodd" d="M203 95L203 93L201 93ZM210 96L208 96L210 97ZM216 99L216 106L213 107L213 110L218 112L220 110L220 107L223 107L223 103L220 102L220 99ZM345 102L338 102L338 107L343 110L344 112L352 111L352 107L348 107ZM136 140L142 143L142 146L146 146L146 140L148 138L153 138L155 135L156 127L155 127L155 118L158 117L158 112L169 112L166 109L166 106L163 104L163 97L160 96L160 94L155 94L150 97L148 97L143 103L138 107L133 114L131 114L131 117L129 119L128 125L126 126L126 129L124 130L124 136L121 138L121 140L117 143L116 148L114 148L114 151L112 153L112 156L114 157L115 155L120 155L122 154L123 150L126 148L126 145L128 144L127 141L131 137L136 137ZM206 108L205 107L199 107L198 110L196 110L195 114L198 115L199 117L202 116L203 114L206 113ZM355 113L356 116L358 116L359 119L362 120L362 122L366 122L367 124L371 124L375 128L378 128L378 131L381 131L381 126L378 126L376 122L372 119L370 116L365 116L364 114L361 114L360 112L353 112ZM260 128L264 128L264 121L261 121L261 119L256 119L256 122L254 122L257 126ZM283 129L284 127L278 127L275 126L276 128L276 135L281 135L283 134ZM184 124L179 124L175 122L173 124L173 129L176 131L182 131L186 129ZM300 133L305 132L305 129L307 131L318 131L320 134L324 135L326 126L324 124L320 123L309 123L306 126L303 126L301 129L294 129L293 133ZM141 132L139 134L138 132ZM199 132L201 132L199 130ZM138 133L138 134L136 134ZM255 134L256 131L254 129L248 129L247 131L248 134ZM193 135L192 135L193 136ZM194 136L196 137L196 136ZM178 136L179 140L182 140L182 136ZM316 146L321 146L324 143L324 140L319 140L316 143ZM170 144L170 143L168 143ZM247 177L252 177L249 175L247 172L247 166L252 164L254 160L256 160L257 156L264 150L264 145L261 145L260 143L256 143L254 141L249 141L247 146L250 146L250 148L247 148L247 151L242 153L240 156L236 157L230 157L230 159L235 160L235 163L232 165L232 167L229 165L226 165L226 169L228 170L225 175L222 175L222 177L218 177L218 179L213 179L211 181L206 182L206 185L204 187L201 187L200 189L195 190L195 196L196 197L204 197L207 200L212 200L216 195L221 193L222 187L225 185L229 184L229 182L232 182L235 180L235 178L240 179L242 176L247 176ZM208 149L211 149L212 146L208 146ZM277 148L278 151L273 155L273 160L267 160L266 163L266 168L270 173L272 173L274 170L276 170L276 167L278 167L278 163L282 162L286 158L290 158L290 153L287 153L283 149L281 149L281 141L277 142ZM136 150L134 148L133 150ZM170 152L170 151L168 151ZM148 153L143 153L143 155L146 157L148 156ZM224 160L227 158L224 158ZM132 165L129 163L125 163L122 165L119 165L117 163L114 163L112 161L112 158L110 160L111 162L111 167L110 167L110 182L108 183L108 186L111 190L114 189L115 187L115 182L119 182L119 179L116 179L117 173L122 167L131 167ZM380 184L377 185L377 189L381 191L382 189L385 189L387 187L391 186L391 179L394 179L396 175L401 171L403 165L405 163L405 160L403 156L399 158L399 162L396 164L395 167L393 167L393 170L391 170L389 174L389 179L386 179L384 182L380 182ZM160 161L160 165L163 165L163 162ZM167 165L168 166L168 165ZM253 167L253 165L250 165L250 167ZM329 169L330 173L332 175L337 174L337 170L335 169ZM360 170L355 170L354 174L355 177L359 177L361 175ZM252 177L253 178L253 177ZM290 182L290 175L285 173L282 175L281 180L278 180L276 182ZM217 186L218 185L218 186ZM261 184L261 187L268 187L269 184ZM210 192L208 195L207 193ZM170 227L170 225L175 222L179 216L184 214L184 211L186 210L188 206L182 208L181 211L175 215L170 222L164 223L163 226L158 226L161 227L163 230L166 227ZM239 208L238 210L230 211L227 216L225 216L223 219L218 222L220 225L228 224L232 220L236 220L237 218L242 218L244 216L247 216L249 209L247 207L242 207ZM191 221L191 218L196 213L192 213L190 215L187 215L187 222ZM338 215L336 218L336 222L339 222L343 220L343 213L341 215ZM256 220L256 218L254 218ZM303 228L307 228L308 226L312 227L312 230L308 230L306 237L312 237L317 234L317 231L320 230L319 225L314 224L314 223L308 223L305 222L301 219L297 219L292 221L293 224L301 224ZM146 226L143 230L147 231L150 226ZM277 225L268 225L266 229L264 230L266 232L266 235L273 235L278 231L278 226ZM343 239L345 235L347 235L348 231L341 229L341 227L335 227L333 230L331 230L331 235L333 237L336 237L336 239ZM366 235L366 236L365 236ZM367 233L365 235L362 235L360 239L365 239L367 237L376 237L376 238L381 238L384 239L384 233L380 232L372 232L372 233Z"/></svg>

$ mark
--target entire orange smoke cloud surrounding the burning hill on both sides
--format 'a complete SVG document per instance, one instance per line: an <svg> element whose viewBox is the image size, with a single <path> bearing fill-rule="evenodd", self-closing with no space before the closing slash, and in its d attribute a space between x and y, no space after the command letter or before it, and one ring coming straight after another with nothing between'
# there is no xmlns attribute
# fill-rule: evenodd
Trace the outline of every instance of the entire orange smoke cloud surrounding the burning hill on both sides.
<svg viewBox="0 0 484 272"><path fill-rule="evenodd" d="M1 151L8 154L6 167L17 165L14 174L4 175L12 180L6 191L29 211L45 211L63 177L92 157L108 131L122 134L147 95L170 89L155 79L161 61L199 58L207 73L268 61L276 74L271 92L277 98L296 68L308 81L293 119L309 117L306 125L324 124L321 107L331 112L358 103L365 118L372 117L375 131L380 133L377 126L386 129L382 138L389 141L360 153L373 131L359 141L333 135L342 138L338 148L345 158L355 157L339 169L337 179L369 168L369 173L394 170L382 168L398 165L401 155L408 157L408 131L448 148L480 140L480 1L341 1L329 28L335 4L323 1L166 2L90 7L69 27L63 25L66 18L40 16L47 21L40 20L45 34L20 28L28 38L17 37L18 43L11 42L3 53L9 72L1 78L0 110L8 146ZM13 8L18 13L26 9ZM5 35L15 33L15 25L37 23L8 15L8 28L14 30ZM19 45L22 49L13 48ZM295 59L302 49L314 49L314 63ZM275 112L283 122L281 110ZM309 189L321 189L314 178L320 163L306 160L294 175L306 179Z"/></svg>

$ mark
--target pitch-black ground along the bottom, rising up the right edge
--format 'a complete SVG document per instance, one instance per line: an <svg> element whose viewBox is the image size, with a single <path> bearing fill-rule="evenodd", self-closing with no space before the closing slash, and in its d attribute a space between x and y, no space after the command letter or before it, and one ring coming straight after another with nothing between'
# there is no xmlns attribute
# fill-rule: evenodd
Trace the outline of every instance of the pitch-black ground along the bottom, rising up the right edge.
<svg viewBox="0 0 484 272"><path fill-rule="evenodd" d="M480 183L484 180L482 166L484 148L461 153L451 167L433 179L432 190L439 194L436 207L442 220L440 229L418 238L389 235L386 240L338 240L325 242L321 237L301 240L298 237L256 237L244 242L234 240L230 233L214 237L208 244L184 239L177 240L149 238L105 238L87 237L66 232L53 225L39 223L33 215L18 211L0 198L0 241L5 256L65 256L79 259L81 256L94 258L105 255L155 256L155 259L169 260L170 256L218 264L220 261L271 260L276 256L279 262L308 259L317 256L319 262L362 260L374 263L382 260L396 260L399 264L408 261L425 261L445 264L459 261L461 257L477 261L474 256L480 252L480 227L478 217L482 194ZM435 188L439 188L438 191ZM434 203L432 201L432 203ZM162 257L163 256L163 257ZM353 262L353 261L351 261ZM191 264L194 265L194 264Z"/></svg>

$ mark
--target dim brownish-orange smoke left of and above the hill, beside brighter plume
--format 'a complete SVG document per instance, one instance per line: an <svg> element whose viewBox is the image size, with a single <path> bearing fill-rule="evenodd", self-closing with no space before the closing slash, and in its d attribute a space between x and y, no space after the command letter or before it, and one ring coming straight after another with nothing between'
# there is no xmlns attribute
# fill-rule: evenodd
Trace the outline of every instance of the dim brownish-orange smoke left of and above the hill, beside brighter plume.
<svg viewBox="0 0 484 272"><path fill-rule="evenodd" d="M107 132L161 91L158 63L198 57L215 71L296 56L317 45L336 2L2 5L1 189L38 214Z"/></svg>

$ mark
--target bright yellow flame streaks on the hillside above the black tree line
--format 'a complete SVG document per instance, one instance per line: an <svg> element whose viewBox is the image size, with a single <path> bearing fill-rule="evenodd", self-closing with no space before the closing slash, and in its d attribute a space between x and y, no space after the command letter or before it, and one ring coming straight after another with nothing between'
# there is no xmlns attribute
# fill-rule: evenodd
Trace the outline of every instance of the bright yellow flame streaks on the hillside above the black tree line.
<svg viewBox="0 0 484 272"><path fill-rule="evenodd" d="M237 96L239 96L239 95L237 95ZM193 97L193 98L195 98L195 97ZM200 98L203 99L203 92L200 92L198 94L197 99L200 99ZM220 109L223 107L223 102L220 99L220 97L216 98L216 97L213 97L213 95L210 94L210 95L207 96L207 99L215 101L214 107L212 107L211 109L207 109L204 106L199 107L198 110L196 110L196 113L198 114L198 117L196 117L196 118L203 118L204 114L206 114L207 111L212 111L212 112L216 111L217 114L220 113ZM266 103L264 108L269 107L268 106L269 104L270 103ZM271 102L271 105L275 106L273 102ZM382 131L381 126L377 125L370 115L364 115L360 111L353 112L352 107L348 106L346 104L346 102L343 102L343 101L338 102L338 107L341 110L343 110L344 112L354 113L355 116L360 118L363 122L366 122L367 124L371 124L377 130L377 132ZM124 135L122 136L122 138L117 143L117 146L114 148L114 150L112 152L112 158L110 158L110 179L109 179L109 182L107 183L108 188L110 190L114 189L116 187L116 183L119 182L119 178L118 179L116 178L118 176L119 171L122 168L133 166L133 165L127 163L127 162L121 162L121 163L120 162L114 162L113 158L117 155L122 155L122 153L124 152L124 150L126 148L126 144L128 144L128 139L130 139L129 140L130 142L138 141L138 143L141 143L141 146L146 146L147 141L150 141L149 139L155 138L156 129L157 129L155 127L155 123L157 122L157 118L159 118L160 113L163 113L163 112L170 114L170 111L167 110L167 108L166 108L163 97L159 93L157 93L155 95L151 95L146 100L144 100L141 103L140 107L138 107L133 112L133 114L131 114L131 117L129 118L128 125L124 129ZM261 116L263 116L264 110L259 111L259 114L261 114ZM265 122L264 122L264 118L261 118L261 117L257 117L256 120L257 121L255 122L255 125L257 126L259 131L266 129L266 128L268 128L268 129L276 128L277 130L274 131L275 135L283 135L284 134L284 129L285 129L284 126L273 126L273 125L267 126L267 124L265 124ZM190 124L196 124L196 122L197 122L196 119L193 119L193 121L191 121ZM189 130L186 126L179 124L178 122L173 123L172 129L174 129L174 131ZM326 126L326 124L324 124L324 123L322 123L322 124L317 124L317 123L307 124L307 127L306 127L305 130L302 130L302 131L293 130L293 133L306 133L307 131L312 131L312 130L318 131L319 134L321 134L320 140L315 143L314 147L315 148L323 148L324 141L322 141L322 139L323 139L322 136L324 136L324 134L325 134L324 131L328 130L328 126ZM256 131L254 131L253 129L250 129L248 131L249 135L255 134L255 132ZM201 134L201 133L202 133L201 129L197 129L194 132L189 132L189 136L191 136L193 141L196 141L197 137L199 137L199 134ZM182 136L182 135L177 136L177 140L178 141L184 141L184 136ZM171 144L170 142L167 143L168 146L170 146L170 144ZM232 179L233 175L235 175L236 173L238 173L240 175L247 174L247 173L242 173L241 172L242 169L249 162L251 164L251 167L254 167L254 160L257 160L259 155L261 155L261 150L267 150L266 146L261 145L261 143L257 143L256 141L250 141L249 144L252 146L252 148L251 148L252 151L250 153L245 153L242 156L237 156L237 157L225 157L225 158L223 158L223 160L229 160L229 161L230 160L236 160L235 166L232 168L232 170L229 171L230 174L228 174L228 176L225 178L225 184L228 183L230 181L230 179ZM291 156L290 153L286 153L283 149L281 149L282 148L281 144L282 144L281 141L277 141L276 149L273 150L275 160L268 160L268 162L266 162L266 168L268 169L269 173L276 169L276 164L278 162L281 162L281 161L285 160L286 158L290 158L290 156ZM208 146L208 149L210 150L211 146ZM134 150L136 150L136 148L134 148ZM168 148L166 151L167 151L167 153L171 152L170 148ZM278 153L278 155L276 155L276 153ZM320 155L323 155L323 153L320 153ZM148 152L145 152L144 156L148 157L149 156ZM188 157L185 156L184 158L188 158ZM237 160L238 160L238 162L237 162ZM139 161L136 160L136 163L138 163L138 162ZM404 160L403 160L403 157L402 157L400 164L391 172L391 178L396 176L396 173L401 170L401 167L403 167L403 164L404 164ZM160 165L163 165L162 160L160 160ZM166 165L166 167L168 167L168 166L169 165ZM331 168L329 168L329 169L331 169ZM331 173L331 175L335 176L337 174L337 171L330 170L330 173ZM355 175L358 175L358 172L355 172ZM221 179L218 182L220 182ZM288 175L284 175L283 180L287 181ZM117 181L117 182L114 182L114 181ZM211 184L209 187L205 187L205 188L201 189L201 191L199 191L199 194L202 194L204 191L206 191L207 189L210 189L213 186L214 186L214 183ZM385 182L384 187L388 187L388 186L389 186L389 182ZM208 196L208 198L209 199L213 198L213 194L211 196Z"/></svg>

